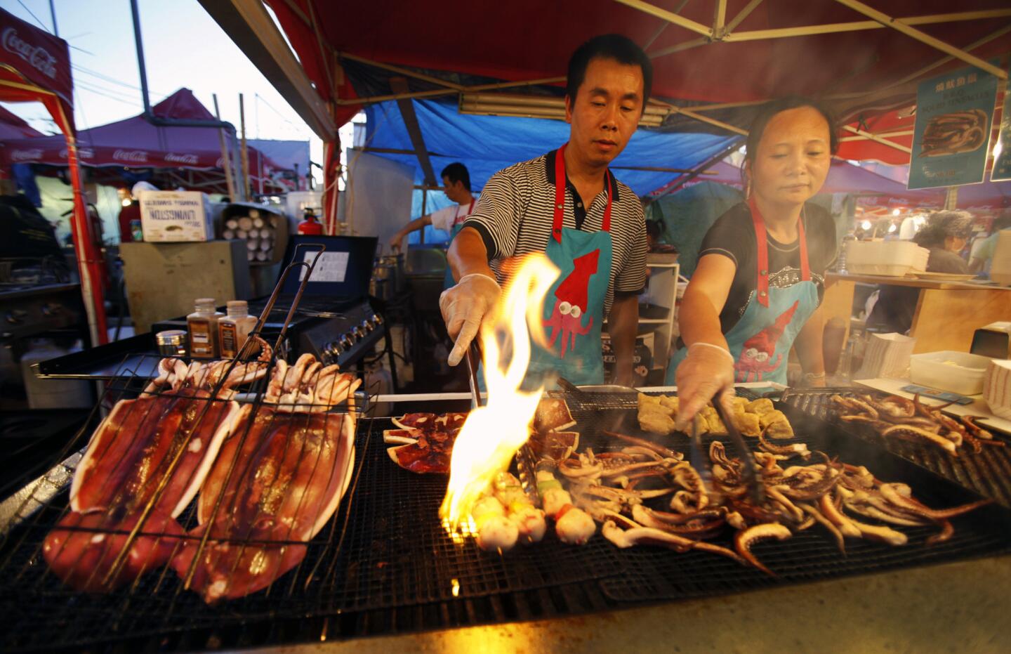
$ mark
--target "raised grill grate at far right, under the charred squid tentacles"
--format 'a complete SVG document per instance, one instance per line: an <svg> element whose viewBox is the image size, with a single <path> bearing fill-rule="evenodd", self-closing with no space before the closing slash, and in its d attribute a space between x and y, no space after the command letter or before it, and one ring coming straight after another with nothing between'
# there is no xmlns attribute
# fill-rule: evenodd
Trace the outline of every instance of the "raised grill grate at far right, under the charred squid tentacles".
<svg viewBox="0 0 1011 654"><path fill-rule="evenodd" d="M834 423L838 413L832 407L829 397L835 393L852 395L853 390L851 388L805 389L787 393L783 401L805 413ZM984 446L979 454L963 447L959 449L957 457L951 457L931 446L883 439L862 425L847 426L845 431L1011 508L1011 444L1003 448ZM996 438L1001 436L998 434Z"/></svg>

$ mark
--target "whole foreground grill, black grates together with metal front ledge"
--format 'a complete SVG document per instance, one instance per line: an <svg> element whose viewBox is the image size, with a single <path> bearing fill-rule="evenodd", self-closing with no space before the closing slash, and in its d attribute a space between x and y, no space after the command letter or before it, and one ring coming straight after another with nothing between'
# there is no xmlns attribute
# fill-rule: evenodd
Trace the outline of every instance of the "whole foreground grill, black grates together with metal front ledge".
<svg viewBox="0 0 1011 654"><path fill-rule="evenodd" d="M370 405L402 402L396 412L411 401L433 405L422 397L379 395ZM568 401L591 441L604 428L590 402L622 404L598 411L625 411L636 398ZM853 440L787 401L779 406L813 449L867 462L882 478L910 483L928 505L971 497L951 480ZM391 425L385 417L359 419L347 499L304 562L269 591L229 602L204 604L171 572L149 574L136 588L108 595L62 586L32 562L62 513L57 498L7 543L13 549L0 550L13 555L0 575L7 591L0 609L16 626L4 636L10 651L74 643L113 651L271 644L266 651L298 653L644 651L657 645L663 651L819 654L1011 651L1011 636L1000 629L1009 606L1011 518L998 505L956 519L950 540L932 546L925 539L935 526L904 528L909 544L901 547L849 540L845 556L815 530L757 545L755 554L777 577L703 552L618 549L600 534L580 547L551 535L498 556L447 537L437 518L445 477L393 465L383 443ZM683 450L684 444L671 447ZM58 624L62 628L53 629Z"/></svg>

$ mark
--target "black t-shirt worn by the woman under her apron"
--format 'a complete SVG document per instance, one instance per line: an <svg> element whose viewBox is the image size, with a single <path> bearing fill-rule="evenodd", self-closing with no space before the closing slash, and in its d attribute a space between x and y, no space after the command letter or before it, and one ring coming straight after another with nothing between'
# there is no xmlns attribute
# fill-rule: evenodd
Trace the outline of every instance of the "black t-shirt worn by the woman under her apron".
<svg viewBox="0 0 1011 654"><path fill-rule="evenodd" d="M835 223L828 211L815 204L806 204L802 214L804 233L808 242L808 265L811 281L818 287L818 299L825 292L825 270L835 261ZM789 288L801 281L800 241L782 244L768 232L768 286ZM751 210L745 203L731 207L713 223L706 232L699 252L701 260L706 255L723 255L737 265L734 281L727 294L727 301L720 311L723 334L744 315L748 301L756 292L758 271L756 262L757 242Z"/></svg>

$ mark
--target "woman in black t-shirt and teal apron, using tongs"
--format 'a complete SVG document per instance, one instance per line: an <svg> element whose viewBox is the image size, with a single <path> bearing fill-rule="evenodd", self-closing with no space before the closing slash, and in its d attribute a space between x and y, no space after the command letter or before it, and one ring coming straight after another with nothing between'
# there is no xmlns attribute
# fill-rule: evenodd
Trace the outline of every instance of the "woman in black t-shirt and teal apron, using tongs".
<svg viewBox="0 0 1011 654"><path fill-rule="evenodd" d="M817 102L790 97L761 109L748 133L746 201L710 227L679 310L667 383L681 397L678 429L735 382L785 384L797 347L809 383L824 385L824 272L835 225L805 204L828 175L838 135Z"/></svg>

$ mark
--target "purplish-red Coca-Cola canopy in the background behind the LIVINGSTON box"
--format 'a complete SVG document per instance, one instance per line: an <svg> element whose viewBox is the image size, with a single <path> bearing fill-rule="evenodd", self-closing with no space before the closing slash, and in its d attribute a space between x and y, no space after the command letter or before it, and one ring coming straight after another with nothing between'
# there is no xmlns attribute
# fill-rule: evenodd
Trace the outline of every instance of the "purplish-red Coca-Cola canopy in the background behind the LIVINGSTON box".
<svg viewBox="0 0 1011 654"><path fill-rule="evenodd" d="M179 89L152 107L157 118L214 120L189 89ZM3 141L3 139L0 139ZM219 175L202 174L222 168L215 129L181 125L155 125L143 114L78 132L81 165L95 168L129 167L194 171L173 176L173 185L197 190L224 191ZM6 139L0 148L0 166L15 163L66 165L67 147L61 136ZM250 179L256 187L262 171L266 192L284 192L271 173L281 167L259 150L249 148Z"/></svg>

